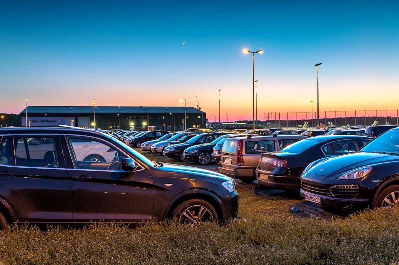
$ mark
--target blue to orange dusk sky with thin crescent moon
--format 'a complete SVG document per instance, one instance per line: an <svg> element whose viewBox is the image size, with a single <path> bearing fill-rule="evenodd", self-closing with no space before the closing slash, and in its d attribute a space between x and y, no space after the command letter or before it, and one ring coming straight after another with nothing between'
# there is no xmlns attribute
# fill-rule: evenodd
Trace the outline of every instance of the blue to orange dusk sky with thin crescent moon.
<svg viewBox="0 0 399 265"><path fill-rule="evenodd" d="M183 41L185 42L182 45ZM397 109L399 0L0 0L0 112L29 105ZM314 105L314 108L316 106ZM260 118L259 118L260 119Z"/></svg>

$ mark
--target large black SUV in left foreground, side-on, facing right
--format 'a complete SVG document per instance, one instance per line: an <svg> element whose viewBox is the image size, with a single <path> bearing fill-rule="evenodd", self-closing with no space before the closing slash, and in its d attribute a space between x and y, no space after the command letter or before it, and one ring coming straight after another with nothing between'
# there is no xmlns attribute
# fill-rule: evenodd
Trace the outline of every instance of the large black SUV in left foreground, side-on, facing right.
<svg viewBox="0 0 399 265"><path fill-rule="evenodd" d="M235 218L235 182L162 164L102 132L0 129L0 228L12 222L162 221L196 225ZM101 155L105 161L90 157Z"/></svg>

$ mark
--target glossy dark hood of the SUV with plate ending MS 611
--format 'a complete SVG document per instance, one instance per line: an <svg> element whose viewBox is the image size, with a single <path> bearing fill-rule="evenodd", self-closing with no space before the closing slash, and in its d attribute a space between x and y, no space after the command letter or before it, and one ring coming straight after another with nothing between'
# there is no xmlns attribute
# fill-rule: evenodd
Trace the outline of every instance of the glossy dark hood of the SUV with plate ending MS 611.
<svg viewBox="0 0 399 265"><path fill-rule="evenodd" d="M399 156L380 153L357 152L326 159L312 167L308 173L321 176L336 176L352 169L364 166L373 166L373 164L396 160L399 160Z"/></svg>

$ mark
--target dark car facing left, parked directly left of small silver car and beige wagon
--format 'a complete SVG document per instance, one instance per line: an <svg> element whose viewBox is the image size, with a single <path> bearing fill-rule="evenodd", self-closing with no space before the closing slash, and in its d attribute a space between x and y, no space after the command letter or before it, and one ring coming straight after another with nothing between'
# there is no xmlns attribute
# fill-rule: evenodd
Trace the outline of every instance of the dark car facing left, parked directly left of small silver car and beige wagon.
<svg viewBox="0 0 399 265"><path fill-rule="evenodd" d="M215 145L220 142L221 139L226 136L236 135L235 133L229 134L228 132L223 131L220 137L216 138L210 143L193 145L189 148L186 148L183 151L183 159L185 161L191 161L198 163L200 165L208 165L212 162L212 150Z"/></svg>

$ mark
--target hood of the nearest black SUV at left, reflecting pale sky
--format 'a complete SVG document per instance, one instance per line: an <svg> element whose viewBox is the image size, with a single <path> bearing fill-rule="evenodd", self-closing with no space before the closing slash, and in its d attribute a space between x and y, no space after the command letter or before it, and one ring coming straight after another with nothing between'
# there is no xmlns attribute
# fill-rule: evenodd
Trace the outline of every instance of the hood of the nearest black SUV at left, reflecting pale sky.
<svg viewBox="0 0 399 265"><path fill-rule="evenodd" d="M169 163L162 163L163 166L157 168L159 171L168 172L169 177L184 177L184 178L191 178L191 176L199 176L199 177L209 177L213 179L219 179L222 181L233 181L232 178L227 177L221 173L205 170L197 167L190 167L190 166L182 166L176 164L169 164Z"/></svg>

